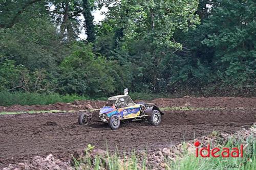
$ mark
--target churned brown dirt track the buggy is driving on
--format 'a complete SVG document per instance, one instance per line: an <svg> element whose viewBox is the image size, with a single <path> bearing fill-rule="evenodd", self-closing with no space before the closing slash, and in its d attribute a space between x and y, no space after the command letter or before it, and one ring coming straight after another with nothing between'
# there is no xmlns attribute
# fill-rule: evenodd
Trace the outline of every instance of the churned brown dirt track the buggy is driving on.
<svg viewBox="0 0 256 170"><path fill-rule="evenodd" d="M68 160L70 154L84 149L89 143L105 149L107 142L112 151L116 146L126 151L132 148L153 151L209 134L213 130L231 133L256 122L256 98L182 98L172 99L172 103L169 103L170 99L158 99L158 102L161 107L208 106L225 109L165 111L158 127L134 122L122 124L117 131L110 130L104 123L79 126L78 112L2 115L0 167L35 155L53 154L56 158Z"/></svg>

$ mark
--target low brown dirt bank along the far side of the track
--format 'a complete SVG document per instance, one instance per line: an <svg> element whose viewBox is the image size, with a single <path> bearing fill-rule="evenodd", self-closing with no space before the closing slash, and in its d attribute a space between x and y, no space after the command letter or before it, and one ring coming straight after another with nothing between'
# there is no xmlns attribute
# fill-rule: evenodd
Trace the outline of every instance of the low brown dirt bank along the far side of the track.
<svg viewBox="0 0 256 170"><path fill-rule="evenodd" d="M206 107L206 108L255 108L256 98L194 98L186 96L184 98L167 99L160 98L153 101L141 101L146 103L156 103L158 107ZM31 111L31 110L92 110L99 109L104 105L104 101L75 101L73 103L56 103L51 105L33 105L10 107L0 106L0 112Z"/></svg>

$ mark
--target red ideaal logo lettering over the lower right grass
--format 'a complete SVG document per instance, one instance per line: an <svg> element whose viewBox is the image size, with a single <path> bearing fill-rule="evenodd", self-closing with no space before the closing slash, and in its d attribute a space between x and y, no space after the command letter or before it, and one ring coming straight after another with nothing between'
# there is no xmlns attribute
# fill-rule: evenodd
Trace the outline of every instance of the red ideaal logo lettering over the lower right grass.
<svg viewBox="0 0 256 170"><path fill-rule="evenodd" d="M196 157L199 155L203 158L212 157L218 158L218 157L223 157L223 158L228 158L228 157L233 157L233 158L238 158L238 157L243 157L243 144L240 145L239 148L232 148L231 150L229 148L212 148L210 149L210 144L207 144L206 148L198 148L200 146L200 142L196 141L194 143L196 147ZM231 152L230 152L231 151Z"/></svg>

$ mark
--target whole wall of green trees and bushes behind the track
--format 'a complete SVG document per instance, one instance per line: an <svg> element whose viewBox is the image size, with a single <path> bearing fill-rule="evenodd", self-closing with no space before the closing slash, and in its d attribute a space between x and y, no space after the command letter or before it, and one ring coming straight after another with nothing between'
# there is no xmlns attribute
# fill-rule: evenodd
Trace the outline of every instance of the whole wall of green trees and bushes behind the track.
<svg viewBox="0 0 256 170"><path fill-rule="evenodd" d="M252 0L2 0L0 91L254 95L255 11Z"/></svg>

